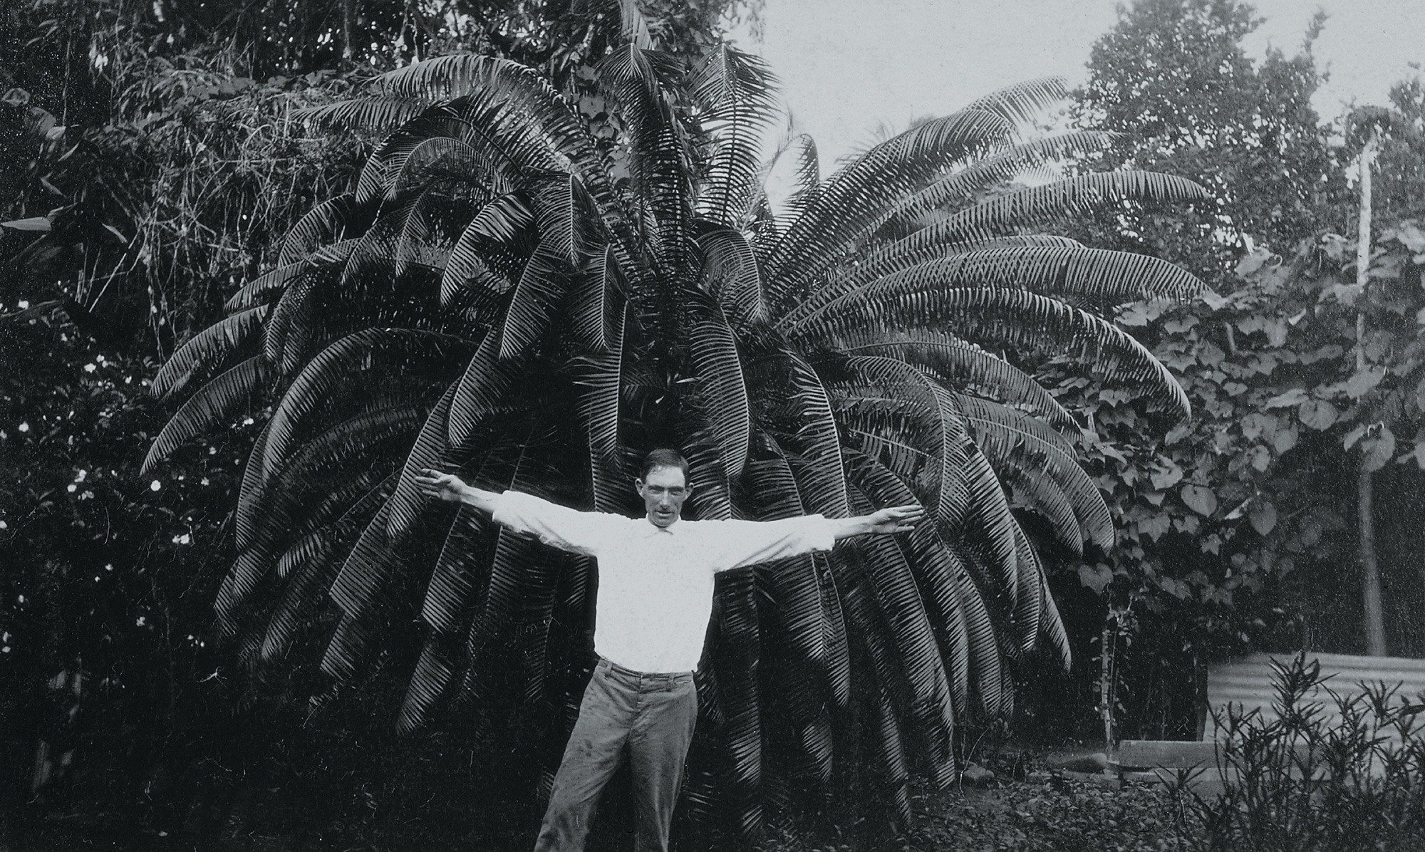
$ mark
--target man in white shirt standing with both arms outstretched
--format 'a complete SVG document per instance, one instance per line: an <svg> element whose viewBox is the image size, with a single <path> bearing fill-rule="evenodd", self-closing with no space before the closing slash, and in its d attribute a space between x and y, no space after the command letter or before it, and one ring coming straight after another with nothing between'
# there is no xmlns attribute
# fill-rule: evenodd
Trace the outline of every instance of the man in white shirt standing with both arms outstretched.
<svg viewBox="0 0 1425 852"><path fill-rule="evenodd" d="M598 560L594 651L579 721L554 776L536 852L579 852L604 785L627 751L638 852L665 852L673 805L698 715L693 670L712 614L712 576L742 566L831 550L859 534L913 529L919 506L826 519L681 520L688 463L674 450L644 459L634 490L643 519L576 511L519 492L472 487L423 470L420 489L487 511L517 533Z"/></svg>

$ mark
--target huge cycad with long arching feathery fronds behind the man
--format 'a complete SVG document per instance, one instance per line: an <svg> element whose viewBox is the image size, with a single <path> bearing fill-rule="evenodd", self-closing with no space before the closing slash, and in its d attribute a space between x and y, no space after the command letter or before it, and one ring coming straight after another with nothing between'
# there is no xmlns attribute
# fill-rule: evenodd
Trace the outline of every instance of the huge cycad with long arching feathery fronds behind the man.
<svg viewBox="0 0 1425 852"><path fill-rule="evenodd" d="M1015 664L1040 638L1069 665L1012 500L1070 553L1113 541L1064 436L1073 417L1012 362L1077 352L1187 406L1104 309L1198 282L1029 228L1203 192L1146 172L1015 184L1106 142L1020 137L1063 95L1047 80L825 180L794 138L777 201L762 158L774 84L754 57L722 47L687 70L631 44L598 83L621 127L613 147L533 71L477 56L392 71L369 97L309 113L393 130L356 187L312 209L276 268L158 373L160 396L197 390L148 463L254 396L269 403L222 630L255 661L325 630L322 667L341 684L399 660L392 637L419 620L402 727L523 688L553 710L551 737L577 708L596 566L423 500L420 467L631 513L636 460L674 446L698 517L919 502L933 523L909 537L722 578L700 672L700 737L721 758L694 759L688 789L752 831L764 748L778 779L815 786L834 757L856 759L841 748L854 718L905 811L908 774L952 778L956 724L1012 707Z"/></svg>

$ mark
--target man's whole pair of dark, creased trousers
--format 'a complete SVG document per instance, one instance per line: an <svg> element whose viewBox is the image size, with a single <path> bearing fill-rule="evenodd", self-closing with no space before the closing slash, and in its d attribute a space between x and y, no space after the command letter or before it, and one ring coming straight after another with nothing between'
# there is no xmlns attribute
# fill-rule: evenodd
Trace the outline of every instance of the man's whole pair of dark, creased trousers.
<svg viewBox="0 0 1425 852"><path fill-rule="evenodd" d="M580 852L604 785L627 754L634 849L665 852L683 762L698 719L693 672L650 674L600 660L554 775L534 852Z"/></svg>

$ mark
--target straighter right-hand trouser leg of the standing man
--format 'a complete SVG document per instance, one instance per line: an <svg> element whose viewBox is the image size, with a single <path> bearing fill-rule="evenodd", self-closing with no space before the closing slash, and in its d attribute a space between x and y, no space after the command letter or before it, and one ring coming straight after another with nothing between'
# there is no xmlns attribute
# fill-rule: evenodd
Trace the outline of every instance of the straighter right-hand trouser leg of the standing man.
<svg viewBox="0 0 1425 852"><path fill-rule="evenodd" d="M670 682L667 690L641 695L643 707L628 735L633 769L636 852L667 852L673 805L678 799L683 765L698 721L698 694L693 677Z"/></svg>

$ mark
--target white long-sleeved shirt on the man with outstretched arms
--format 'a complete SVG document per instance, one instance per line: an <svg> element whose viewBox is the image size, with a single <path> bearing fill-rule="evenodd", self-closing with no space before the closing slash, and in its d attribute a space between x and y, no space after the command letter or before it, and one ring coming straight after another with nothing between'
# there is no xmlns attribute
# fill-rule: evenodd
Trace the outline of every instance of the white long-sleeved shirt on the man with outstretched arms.
<svg viewBox="0 0 1425 852"><path fill-rule="evenodd" d="M647 519L577 511L520 492L494 502L494 521L550 547L598 560L594 651L637 671L691 671L712 615L712 574L831 550L819 514L774 521Z"/></svg>

